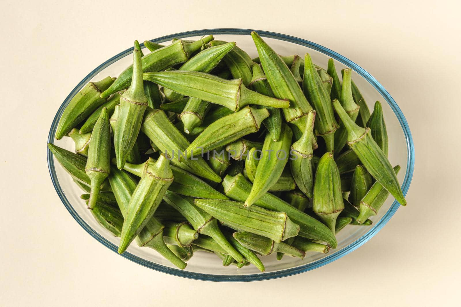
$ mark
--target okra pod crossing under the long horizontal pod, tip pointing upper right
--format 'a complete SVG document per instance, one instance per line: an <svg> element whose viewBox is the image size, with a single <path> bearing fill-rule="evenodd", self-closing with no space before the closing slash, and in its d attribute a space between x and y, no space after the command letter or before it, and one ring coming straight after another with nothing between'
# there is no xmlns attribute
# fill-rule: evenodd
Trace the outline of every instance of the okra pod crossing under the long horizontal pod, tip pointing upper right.
<svg viewBox="0 0 461 307"><path fill-rule="evenodd" d="M201 71L209 73L221 62L225 55L232 50L236 45L235 42L225 43L224 45L207 48L192 57L184 63L178 70ZM169 88L164 88L163 93L171 101L182 98L183 95L172 91Z"/></svg>

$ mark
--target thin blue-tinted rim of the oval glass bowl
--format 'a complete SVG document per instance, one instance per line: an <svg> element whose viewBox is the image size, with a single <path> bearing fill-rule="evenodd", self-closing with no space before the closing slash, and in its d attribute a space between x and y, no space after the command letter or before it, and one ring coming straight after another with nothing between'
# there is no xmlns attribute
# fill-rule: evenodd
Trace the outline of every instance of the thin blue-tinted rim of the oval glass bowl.
<svg viewBox="0 0 461 307"><path fill-rule="evenodd" d="M337 61L343 63L344 65L352 68L357 72L359 75L361 75L363 78L366 79L376 90L385 98L387 103L390 105L392 110L394 111L395 115L397 116L398 121L400 122L400 125L402 126L403 133L405 134L405 139L407 142L407 152L408 152L408 158L407 158L407 171L405 175L405 179L403 180L402 183L402 191L403 195L407 194L408 188L410 186L412 177L413 177L413 172L414 172L414 144L413 144L413 138L410 133L410 128L408 127L408 122L405 119L405 116L403 116L402 110L400 110L399 106L396 104L395 100L390 96L390 94L384 89L384 87L376 81L375 78L372 77L368 72L366 72L364 69L362 69L360 66L355 64L354 62L350 61L349 59L343 57L342 55L338 54L337 52L334 52L328 48L325 48L324 46L320 46L316 43L313 43L311 41L306 41L298 37L290 36L290 35L284 35L284 34L279 34L279 33L274 33L274 32L268 32L268 31L261 31L261 30L251 30L251 29L203 29L203 30L194 30L194 31L188 31L188 32L182 32L182 33L176 33L172 35L166 35L162 36L159 38L156 38L154 40L151 40L154 43L161 43L165 41L170 41L173 38L184 38L184 37L192 37L192 36L201 36L201 35L250 35L251 31L256 31L260 36L263 37L268 37L268 38L274 38L282 41L288 41L291 43L295 43L301 46L306 46L309 47L313 50L317 50L319 52L322 52L331 58L336 59ZM143 46L143 44L141 44ZM69 104L70 100L74 95L86 84L88 83L96 74L98 74L101 70L106 68L108 65L116 62L120 58L123 58L124 56L128 55L131 53L133 50L133 47L130 47L126 49L123 52L118 53L114 57L108 59L106 62L103 64L100 64L98 67L96 67L92 72L90 72L85 78L83 78L80 83L77 84L77 86L71 91L71 93L65 98L63 104L59 107L58 112L56 113L56 116L54 116L53 123L50 128L50 132L48 134L48 143L53 143L54 141L54 134L56 133L56 128L59 122L59 118L61 117L65 107L67 104ZM48 161L48 169L50 172L51 180L53 181L54 188L56 189L56 192L59 195L59 198L61 198L61 201L64 203L65 208L69 211L69 213L72 215L72 217L77 221L80 226L83 227L83 229L88 232L91 236L93 236L96 240L98 240L100 243L104 244L107 248L111 249L115 253L117 253L118 247L107 241L104 237L102 237L99 233L95 232L93 228L91 228L81 217L80 215L77 214L77 212L72 208L71 204L69 203L67 197L65 197L64 191L62 190L61 186L59 185L58 178L56 176L55 168L54 168L54 161L53 161L53 154L49 149L47 149L47 161ZM243 282L243 281L257 281L257 280L266 280L266 279L272 279L272 278L280 278L280 277L285 277L285 276L290 276L294 274L298 274L301 272L307 272L310 270L313 270L315 268L318 268L320 266L324 266L332 261L335 261L344 255L349 254L353 250L359 248L362 244L367 242L369 239L371 239L376 233L378 233L381 228L384 227L384 225L387 224L387 222L390 220L390 218L396 213L397 209L400 207L400 204L397 203L397 201L394 201L390 209L384 214L384 216L368 231L366 234L358 238L355 242L349 244L348 246L344 247L343 249L337 251L336 253L332 255L328 255L318 261L314 261L312 263L308 263L306 265L302 266L297 266L294 268L290 269L285 269L282 271L277 271L277 272L267 272L267 273L258 273L258 274L249 274L249 275L213 275L213 274L202 274L202 273L195 273L195 272L187 272L187 271L182 271L166 266L162 266L159 264L156 264L154 262L146 261L136 255L130 254L128 252L125 252L122 254L125 258L134 261L142 266L149 267L151 269L154 269L156 271L168 273L171 275L176 275L180 277L185 277L185 278L192 278L192 279L198 279L198 280L207 280L207 281L221 281L221 282Z"/></svg>

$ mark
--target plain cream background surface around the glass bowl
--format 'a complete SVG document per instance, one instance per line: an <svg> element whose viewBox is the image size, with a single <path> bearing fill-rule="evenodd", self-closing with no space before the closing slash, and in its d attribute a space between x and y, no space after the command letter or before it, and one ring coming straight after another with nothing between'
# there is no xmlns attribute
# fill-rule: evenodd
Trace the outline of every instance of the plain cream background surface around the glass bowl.
<svg viewBox="0 0 461 307"><path fill-rule="evenodd" d="M461 27L455 1L156 2L1 1L2 306L457 302ZM399 104L416 151L408 206L368 243L296 276L202 282L116 255L67 212L45 154L66 95L134 39L207 28L263 29L314 41L361 65Z"/></svg>

